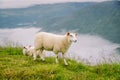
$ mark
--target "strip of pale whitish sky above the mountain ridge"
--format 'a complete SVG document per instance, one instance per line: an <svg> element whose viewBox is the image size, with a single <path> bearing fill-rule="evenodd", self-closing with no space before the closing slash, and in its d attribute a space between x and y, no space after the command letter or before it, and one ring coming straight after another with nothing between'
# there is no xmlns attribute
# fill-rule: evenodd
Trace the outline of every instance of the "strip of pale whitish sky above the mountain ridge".
<svg viewBox="0 0 120 80"><path fill-rule="evenodd" d="M106 0L0 0L0 8L21 8L35 4L53 4L64 2L102 2Z"/></svg>

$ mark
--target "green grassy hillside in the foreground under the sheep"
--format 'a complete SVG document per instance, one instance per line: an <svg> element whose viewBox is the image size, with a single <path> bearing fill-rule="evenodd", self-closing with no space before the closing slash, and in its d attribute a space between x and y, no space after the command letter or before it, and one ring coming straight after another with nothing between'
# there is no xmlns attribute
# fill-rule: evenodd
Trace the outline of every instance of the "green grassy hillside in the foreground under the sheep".
<svg viewBox="0 0 120 80"><path fill-rule="evenodd" d="M55 58L39 58L22 55L20 47L0 47L0 80L120 80L120 64L96 66L67 59L55 63Z"/></svg>

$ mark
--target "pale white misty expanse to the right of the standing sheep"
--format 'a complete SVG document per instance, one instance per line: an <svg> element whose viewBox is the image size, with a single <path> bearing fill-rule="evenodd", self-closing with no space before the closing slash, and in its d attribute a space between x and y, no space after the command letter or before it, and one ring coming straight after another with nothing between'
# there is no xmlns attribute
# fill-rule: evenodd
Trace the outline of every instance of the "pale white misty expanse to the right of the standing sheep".
<svg viewBox="0 0 120 80"><path fill-rule="evenodd" d="M68 56L87 64L119 62L120 56L116 48L119 44L112 43L99 36L79 35L78 42L68 51Z"/></svg>

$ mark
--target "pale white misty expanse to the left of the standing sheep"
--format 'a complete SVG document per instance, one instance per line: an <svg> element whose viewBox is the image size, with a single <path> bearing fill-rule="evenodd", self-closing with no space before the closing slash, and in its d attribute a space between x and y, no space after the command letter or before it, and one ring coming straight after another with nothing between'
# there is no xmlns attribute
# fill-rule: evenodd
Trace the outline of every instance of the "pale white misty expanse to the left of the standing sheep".
<svg viewBox="0 0 120 80"><path fill-rule="evenodd" d="M23 46L33 45L34 35L40 28L15 28L0 29L0 44L6 45L7 42L14 42Z"/></svg>

